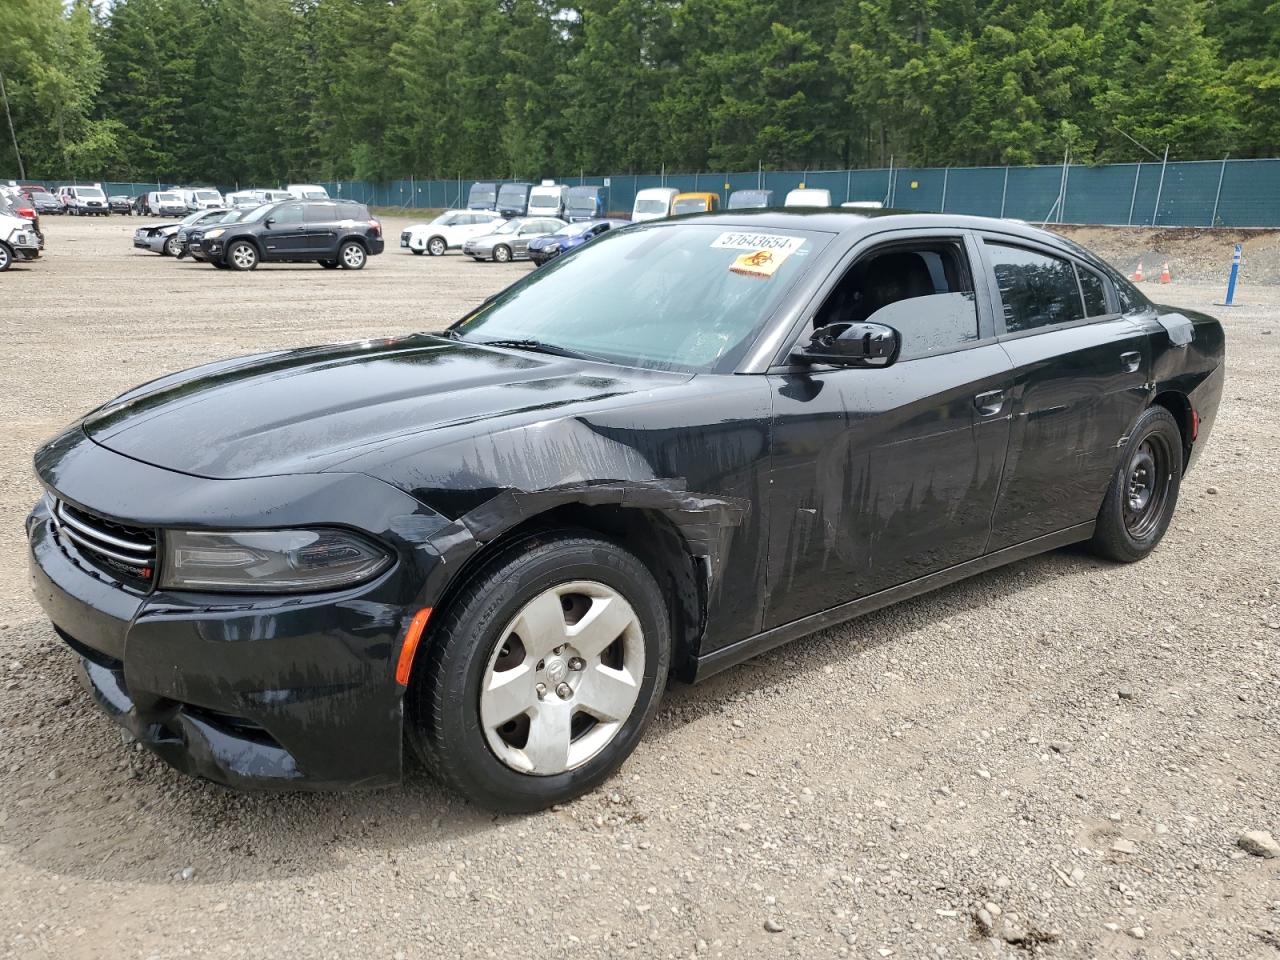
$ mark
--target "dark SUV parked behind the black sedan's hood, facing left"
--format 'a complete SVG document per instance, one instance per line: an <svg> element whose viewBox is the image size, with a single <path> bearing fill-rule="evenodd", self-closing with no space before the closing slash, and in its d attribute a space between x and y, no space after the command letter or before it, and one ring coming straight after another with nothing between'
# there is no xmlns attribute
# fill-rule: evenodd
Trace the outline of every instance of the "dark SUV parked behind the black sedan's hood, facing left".
<svg viewBox="0 0 1280 960"><path fill-rule="evenodd" d="M236 223L188 239L193 256L219 269L253 270L260 262L315 262L329 270L360 270L383 252L383 225L364 204L347 200L288 200L265 204Z"/></svg>

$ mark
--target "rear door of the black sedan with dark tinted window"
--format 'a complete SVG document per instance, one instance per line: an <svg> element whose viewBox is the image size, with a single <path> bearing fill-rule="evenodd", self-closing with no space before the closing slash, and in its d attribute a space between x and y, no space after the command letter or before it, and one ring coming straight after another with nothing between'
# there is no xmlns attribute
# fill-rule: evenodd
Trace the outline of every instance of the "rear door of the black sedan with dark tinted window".
<svg viewBox="0 0 1280 960"><path fill-rule="evenodd" d="M1147 406L1151 348L1111 282L1061 250L983 236L1014 420L992 550L1092 521Z"/></svg>

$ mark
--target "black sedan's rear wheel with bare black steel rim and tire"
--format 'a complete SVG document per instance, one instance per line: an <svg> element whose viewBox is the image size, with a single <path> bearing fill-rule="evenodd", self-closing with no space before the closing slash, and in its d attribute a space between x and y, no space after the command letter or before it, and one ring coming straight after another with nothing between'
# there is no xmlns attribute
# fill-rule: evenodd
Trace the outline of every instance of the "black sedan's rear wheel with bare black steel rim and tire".
<svg viewBox="0 0 1280 960"><path fill-rule="evenodd" d="M1174 518L1183 481L1183 434L1164 407L1148 407L1129 431L1093 530L1094 553L1140 561Z"/></svg>

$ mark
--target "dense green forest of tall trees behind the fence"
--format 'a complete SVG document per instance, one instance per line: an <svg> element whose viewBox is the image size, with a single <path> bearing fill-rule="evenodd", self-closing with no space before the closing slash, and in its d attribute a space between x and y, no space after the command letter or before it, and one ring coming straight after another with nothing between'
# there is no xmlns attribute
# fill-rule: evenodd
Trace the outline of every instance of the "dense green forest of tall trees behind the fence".
<svg viewBox="0 0 1280 960"><path fill-rule="evenodd" d="M0 174L1275 156L1277 0L3 0Z"/></svg>

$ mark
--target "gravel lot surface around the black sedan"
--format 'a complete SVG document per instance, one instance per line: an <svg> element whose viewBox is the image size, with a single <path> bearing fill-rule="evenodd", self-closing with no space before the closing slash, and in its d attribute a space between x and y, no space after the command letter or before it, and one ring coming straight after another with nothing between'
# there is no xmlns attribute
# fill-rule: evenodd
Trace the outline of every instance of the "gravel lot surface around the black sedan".
<svg viewBox="0 0 1280 960"><path fill-rule="evenodd" d="M0 276L0 956L1280 957L1280 859L1238 847L1280 837L1280 287L1217 310L1222 410L1149 559L1048 554L676 685L604 790L508 818L416 768L242 796L124 745L22 518L37 444L129 385L430 329L527 268L239 275L138 223L50 218Z"/></svg>

